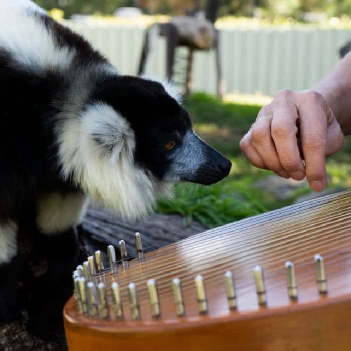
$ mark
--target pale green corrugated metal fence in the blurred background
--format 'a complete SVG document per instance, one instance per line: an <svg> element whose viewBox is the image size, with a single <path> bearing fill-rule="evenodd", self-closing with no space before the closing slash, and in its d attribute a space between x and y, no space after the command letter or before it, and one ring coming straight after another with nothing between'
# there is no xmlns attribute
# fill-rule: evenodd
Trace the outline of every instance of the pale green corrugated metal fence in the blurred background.
<svg viewBox="0 0 351 351"><path fill-rule="evenodd" d="M145 28L66 23L85 36L120 72L136 74ZM339 48L350 39L351 30L221 29L224 91L272 95L283 88L310 88L337 63ZM215 93L214 52L197 52L194 56L194 90ZM164 67L165 43L159 38L147 61L146 74L164 78Z"/></svg>

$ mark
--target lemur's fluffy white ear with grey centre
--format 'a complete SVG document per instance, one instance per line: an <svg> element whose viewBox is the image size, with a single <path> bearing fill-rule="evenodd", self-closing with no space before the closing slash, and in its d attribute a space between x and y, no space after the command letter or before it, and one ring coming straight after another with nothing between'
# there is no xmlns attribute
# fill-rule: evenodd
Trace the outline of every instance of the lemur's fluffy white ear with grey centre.
<svg viewBox="0 0 351 351"><path fill-rule="evenodd" d="M111 106L98 104L89 108L84 119L95 150L111 160L123 153L131 157L135 147L133 130L129 123Z"/></svg>

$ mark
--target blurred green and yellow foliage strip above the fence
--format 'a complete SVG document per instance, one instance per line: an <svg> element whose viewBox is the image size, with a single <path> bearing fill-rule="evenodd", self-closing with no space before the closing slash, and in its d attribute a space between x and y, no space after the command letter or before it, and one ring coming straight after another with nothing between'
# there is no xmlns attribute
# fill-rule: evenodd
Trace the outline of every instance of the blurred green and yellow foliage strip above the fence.
<svg viewBox="0 0 351 351"><path fill-rule="evenodd" d="M65 17L72 14L111 15L118 7L139 6L145 13L179 14L200 7L205 0L35 0L47 10L61 9ZM323 12L329 17L351 15L351 0L219 0L218 16L292 17L298 20L306 12Z"/></svg>

